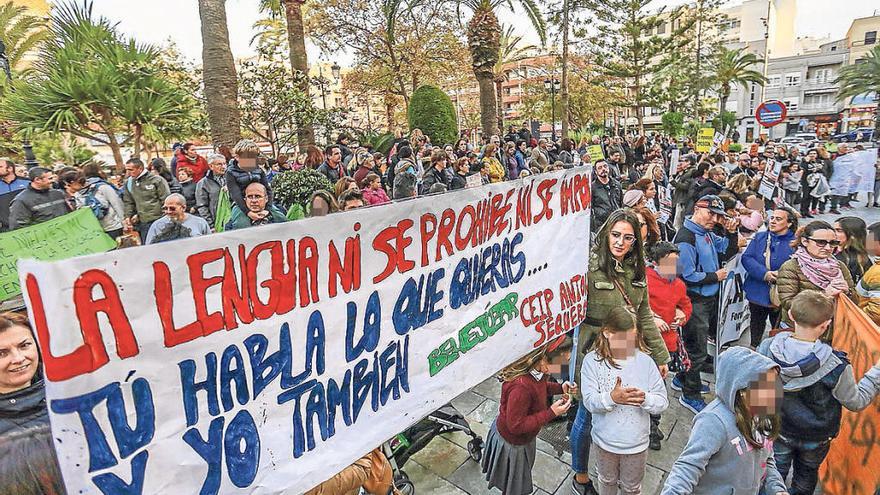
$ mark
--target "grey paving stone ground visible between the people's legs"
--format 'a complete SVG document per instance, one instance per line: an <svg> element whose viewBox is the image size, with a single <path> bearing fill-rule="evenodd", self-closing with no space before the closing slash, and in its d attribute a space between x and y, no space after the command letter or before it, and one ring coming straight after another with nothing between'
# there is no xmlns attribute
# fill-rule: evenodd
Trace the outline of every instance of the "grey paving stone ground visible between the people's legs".
<svg viewBox="0 0 880 495"><path fill-rule="evenodd" d="M864 204L864 199L859 203ZM855 210L842 213L858 216L867 224L880 221L880 208L857 207ZM837 215L819 216L819 219L829 222L837 218ZM712 375L704 375L703 378L709 382L713 379ZM659 495L669 469L690 436L693 414L678 403L680 394L668 387L669 381L667 380L667 391L670 405L663 413L660 422L660 429L666 435L666 439L663 441L662 450L649 451L648 467L642 485L642 493L645 495ZM714 384L712 391L714 392ZM490 378L453 399L452 404L465 416L471 428L485 439L492 421L498 415L500 398L501 384L495 378ZM712 394L706 397L707 402L712 399L714 399ZM552 424L546 430L554 428L562 428L562 433L556 433L564 435L564 423ZM553 438L548 431L543 431L538 438L538 453L532 471L536 486L535 495L571 493L571 453L565 445L564 437L560 438L563 441ZM500 495L501 492L498 490L487 488L479 464L468 456L466 450L468 440L470 437L463 433L444 434L435 438L403 466L403 470L414 483L418 495ZM817 490L817 493L821 492Z"/></svg>

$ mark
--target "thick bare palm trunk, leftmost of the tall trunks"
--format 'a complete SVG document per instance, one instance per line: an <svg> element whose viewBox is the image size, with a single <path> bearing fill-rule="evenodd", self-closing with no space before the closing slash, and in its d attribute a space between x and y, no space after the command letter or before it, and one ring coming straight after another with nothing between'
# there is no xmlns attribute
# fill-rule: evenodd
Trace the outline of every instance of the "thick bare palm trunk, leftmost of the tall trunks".
<svg viewBox="0 0 880 495"><path fill-rule="evenodd" d="M224 0L199 0L202 21L202 66L208 122L215 146L235 146L241 139L238 78L229 48Z"/></svg>

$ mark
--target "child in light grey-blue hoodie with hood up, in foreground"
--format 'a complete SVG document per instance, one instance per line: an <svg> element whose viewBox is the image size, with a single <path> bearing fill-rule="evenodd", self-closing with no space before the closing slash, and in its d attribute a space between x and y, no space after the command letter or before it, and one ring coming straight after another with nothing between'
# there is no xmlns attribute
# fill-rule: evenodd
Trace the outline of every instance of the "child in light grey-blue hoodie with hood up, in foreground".
<svg viewBox="0 0 880 495"><path fill-rule="evenodd" d="M694 417L661 495L788 495L776 469L779 365L745 347L718 356L717 395Z"/></svg>

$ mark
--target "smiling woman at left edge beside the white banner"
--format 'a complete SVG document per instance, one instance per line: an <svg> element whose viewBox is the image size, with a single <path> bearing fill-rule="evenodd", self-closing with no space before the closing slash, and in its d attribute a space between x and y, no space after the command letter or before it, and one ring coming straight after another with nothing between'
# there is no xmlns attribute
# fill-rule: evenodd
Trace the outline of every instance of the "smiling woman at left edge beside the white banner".
<svg viewBox="0 0 880 495"><path fill-rule="evenodd" d="M27 317L0 313L0 435L48 424L40 353Z"/></svg>

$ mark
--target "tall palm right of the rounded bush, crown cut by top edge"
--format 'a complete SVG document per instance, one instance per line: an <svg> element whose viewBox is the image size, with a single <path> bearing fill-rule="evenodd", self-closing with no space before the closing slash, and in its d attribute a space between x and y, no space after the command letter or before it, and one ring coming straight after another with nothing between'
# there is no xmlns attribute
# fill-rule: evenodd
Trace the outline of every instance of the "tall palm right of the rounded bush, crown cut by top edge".
<svg viewBox="0 0 880 495"><path fill-rule="evenodd" d="M495 9L502 5L513 7L513 0L458 0L459 7L473 12L467 24L468 48L471 66L480 86L480 124L484 136L497 134L498 108L495 97L495 66L501 53L501 25ZM537 31L543 44L547 39L547 24L535 0L517 0Z"/></svg>

